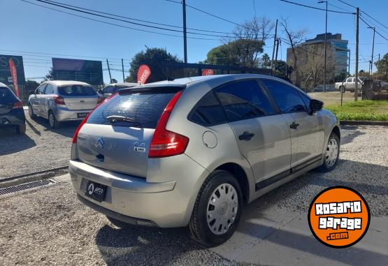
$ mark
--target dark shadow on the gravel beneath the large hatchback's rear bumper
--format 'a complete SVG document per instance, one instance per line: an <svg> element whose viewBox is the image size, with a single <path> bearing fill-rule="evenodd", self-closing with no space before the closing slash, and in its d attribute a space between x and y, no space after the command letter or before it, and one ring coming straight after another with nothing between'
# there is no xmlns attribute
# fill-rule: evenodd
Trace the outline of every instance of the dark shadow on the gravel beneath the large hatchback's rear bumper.
<svg viewBox="0 0 388 266"><path fill-rule="evenodd" d="M107 265L130 265L134 261L139 265L167 265L182 253L199 249L189 239L187 228L106 225L97 233L96 244Z"/></svg>

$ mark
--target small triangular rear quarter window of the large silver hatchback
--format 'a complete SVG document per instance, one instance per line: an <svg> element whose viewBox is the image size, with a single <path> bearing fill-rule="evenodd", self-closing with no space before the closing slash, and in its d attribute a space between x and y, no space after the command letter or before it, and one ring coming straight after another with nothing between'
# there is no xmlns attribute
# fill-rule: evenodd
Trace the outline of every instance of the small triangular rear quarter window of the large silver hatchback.
<svg viewBox="0 0 388 266"><path fill-rule="evenodd" d="M189 114L189 120L203 126L214 126L227 123L224 110L211 91L196 104Z"/></svg>

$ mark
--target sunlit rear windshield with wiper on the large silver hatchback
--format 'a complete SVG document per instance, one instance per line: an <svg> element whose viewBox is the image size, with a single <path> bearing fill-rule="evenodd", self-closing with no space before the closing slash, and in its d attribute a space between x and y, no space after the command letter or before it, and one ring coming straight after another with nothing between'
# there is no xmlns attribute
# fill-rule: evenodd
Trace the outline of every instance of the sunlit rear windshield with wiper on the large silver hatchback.
<svg viewBox="0 0 388 266"><path fill-rule="evenodd" d="M161 113L174 94L175 92L119 94L94 110L87 123L156 128Z"/></svg>

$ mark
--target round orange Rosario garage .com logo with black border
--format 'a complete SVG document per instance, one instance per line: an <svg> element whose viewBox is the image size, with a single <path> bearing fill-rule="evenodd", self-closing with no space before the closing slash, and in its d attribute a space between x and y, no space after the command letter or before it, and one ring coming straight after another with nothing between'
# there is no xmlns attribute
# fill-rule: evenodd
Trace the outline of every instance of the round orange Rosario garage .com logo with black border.
<svg viewBox="0 0 388 266"><path fill-rule="evenodd" d="M359 242L368 231L370 221L364 197L346 186L321 191L308 210L312 235L322 244L338 249Z"/></svg>

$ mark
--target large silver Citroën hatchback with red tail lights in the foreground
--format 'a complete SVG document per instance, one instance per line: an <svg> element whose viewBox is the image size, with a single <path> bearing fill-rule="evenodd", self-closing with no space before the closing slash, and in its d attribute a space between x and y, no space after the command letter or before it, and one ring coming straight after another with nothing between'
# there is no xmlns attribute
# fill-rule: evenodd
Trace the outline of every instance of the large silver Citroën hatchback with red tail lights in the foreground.
<svg viewBox="0 0 388 266"><path fill-rule="evenodd" d="M205 246L244 203L308 170L336 167L340 127L321 101L266 75L156 82L101 103L76 131L78 199L113 223L189 226Z"/></svg>

